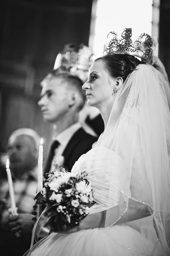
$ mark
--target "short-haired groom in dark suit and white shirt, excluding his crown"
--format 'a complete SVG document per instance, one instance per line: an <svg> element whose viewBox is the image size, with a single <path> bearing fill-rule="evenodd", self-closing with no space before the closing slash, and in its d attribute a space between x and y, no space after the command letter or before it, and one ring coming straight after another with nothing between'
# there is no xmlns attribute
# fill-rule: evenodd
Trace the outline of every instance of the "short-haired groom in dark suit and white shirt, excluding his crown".
<svg viewBox="0 0 170 256"><path fill-rule="evenodd" d="M92 148L97 137L86 133L78 122L84 106L83 82L77 76L57 71L42 82L41 108L43 119L55 126L52 145L44 173L55 168L61 156L63 166L70 172L78 158Z"/></svg>

